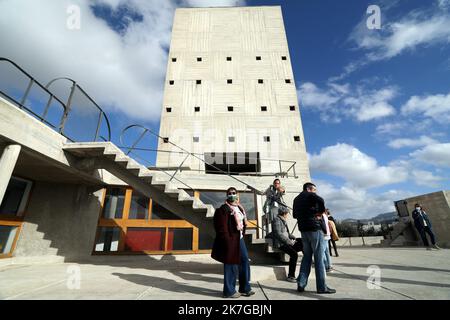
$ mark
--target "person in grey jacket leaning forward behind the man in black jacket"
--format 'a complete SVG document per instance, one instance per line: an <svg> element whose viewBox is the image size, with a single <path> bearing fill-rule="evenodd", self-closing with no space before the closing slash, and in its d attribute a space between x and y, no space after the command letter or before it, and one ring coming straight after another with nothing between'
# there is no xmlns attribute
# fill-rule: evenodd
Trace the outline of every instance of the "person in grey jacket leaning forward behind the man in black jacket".
<svg viewBox="0 0 450 320"><path fill-rule="evenodd" d="M281 206L278 215L272 221L274 246L289 255L289 271L287 281L297 282L295 278L295 268L297 267L298 252L302 251L302 239L296 238L289 232L287 225L287 215L289 209Z"/></svg>

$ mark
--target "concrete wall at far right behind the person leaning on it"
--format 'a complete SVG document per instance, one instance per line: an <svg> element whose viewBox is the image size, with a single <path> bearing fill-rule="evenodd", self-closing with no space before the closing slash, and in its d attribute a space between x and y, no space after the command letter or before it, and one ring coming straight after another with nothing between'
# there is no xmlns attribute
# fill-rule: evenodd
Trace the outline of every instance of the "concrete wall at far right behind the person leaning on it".
<svg viewBox="0 0 450 320"><path fill-rule="evenodd" d="M438 245L450 248L450 191L439 191L404 199L411 216L416 203L428 214ZM415 228L414 228L415 230ZM416 236L420 239L419 234ZM420 240L422 245L422 240Z"/></svg>

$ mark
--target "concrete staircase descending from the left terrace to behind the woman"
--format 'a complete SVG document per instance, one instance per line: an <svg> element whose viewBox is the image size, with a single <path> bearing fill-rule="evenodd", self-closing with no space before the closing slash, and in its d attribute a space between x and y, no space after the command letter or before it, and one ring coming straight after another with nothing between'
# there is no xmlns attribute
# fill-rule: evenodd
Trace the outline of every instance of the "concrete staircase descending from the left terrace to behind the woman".
<svg viewBox="0 0 450 320"><path fill-rule="evenodd" d="M154 199L166 209L189 223L201 228L212 237L215 236L213 217L214 207L190 196L169 181L169 176L155 172L125 155L111 142L77 142L66 143L63 150L77 158L73 166L79 170L89 171L105 169L121 179L134 190ZM256 229L247 229L250 243L261 246L266 244L257 239ZM269 251L270 252L270 251Z"/></svg>

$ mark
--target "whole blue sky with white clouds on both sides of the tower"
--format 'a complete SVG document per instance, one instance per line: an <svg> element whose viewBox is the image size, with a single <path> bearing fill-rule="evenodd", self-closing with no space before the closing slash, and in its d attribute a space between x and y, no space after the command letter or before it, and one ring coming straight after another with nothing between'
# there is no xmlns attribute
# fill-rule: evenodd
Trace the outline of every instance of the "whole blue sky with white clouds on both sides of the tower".
<svg viewBox="0 0 450 320"><path fill-rule="evenodd" d="M118 142L131 123L158 130L174 10L200 5L281 5L312 178L338 217L449 189L449 0L4 0L0 56L43 83L77 79ZM380 30L366 27L369 5Z"/></svg>

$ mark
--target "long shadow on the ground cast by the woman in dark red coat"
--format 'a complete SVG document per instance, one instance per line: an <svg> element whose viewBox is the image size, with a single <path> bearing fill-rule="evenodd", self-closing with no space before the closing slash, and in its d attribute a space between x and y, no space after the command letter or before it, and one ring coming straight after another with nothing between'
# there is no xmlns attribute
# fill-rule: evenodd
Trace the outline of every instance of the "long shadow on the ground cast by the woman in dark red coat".
<svg viewBox="0 0 450 320"><path fill-rule="evenodd" d="M208 288L194 287L180 283L172 279L165 279L140 274L125 274L114 272L112 275L119 277L120 279L133 282L138 285L153 287L161 289L167 292L177 292L186 294L204 295L208 297L222 297L222 292L217 290L211 290Z"/></svg>

